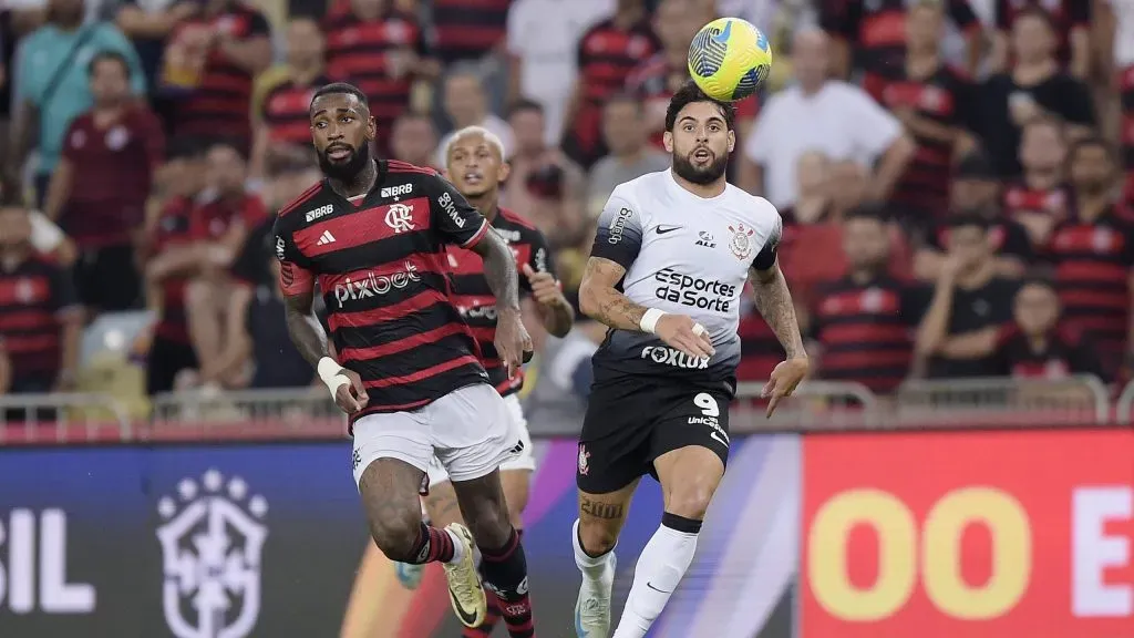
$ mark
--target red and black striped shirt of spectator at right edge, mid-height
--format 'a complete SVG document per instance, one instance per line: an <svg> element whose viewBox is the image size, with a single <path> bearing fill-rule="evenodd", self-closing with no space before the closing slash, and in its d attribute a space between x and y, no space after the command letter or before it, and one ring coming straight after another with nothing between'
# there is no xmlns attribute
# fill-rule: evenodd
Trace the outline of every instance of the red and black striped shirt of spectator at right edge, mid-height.
<svg viewBox="0 0 1134 638"><path fill-rule="evenodd" d="M1129 283L1134 225L1117 210L1094 221L1072 217L1056 226L1047 246L1067 326L1090 334L1102 368L1117 373L1131 344Z"/></svg>

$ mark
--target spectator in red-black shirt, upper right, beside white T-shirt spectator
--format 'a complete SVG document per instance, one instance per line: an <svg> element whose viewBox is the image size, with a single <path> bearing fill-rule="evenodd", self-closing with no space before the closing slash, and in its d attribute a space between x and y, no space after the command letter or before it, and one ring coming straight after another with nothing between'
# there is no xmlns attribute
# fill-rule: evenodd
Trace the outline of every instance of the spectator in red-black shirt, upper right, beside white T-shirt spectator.
<svg viewBox="0 0 1134 638"><path fill-rule="evenodd" d="M949 205L954 157L971 143L966 128L973 117L975 91L938 53L943 36L941 9L916 5L906 12L903 68L882 89L890 109L917 144L890 195L898 212L915 225L940 219Z"/></svg>

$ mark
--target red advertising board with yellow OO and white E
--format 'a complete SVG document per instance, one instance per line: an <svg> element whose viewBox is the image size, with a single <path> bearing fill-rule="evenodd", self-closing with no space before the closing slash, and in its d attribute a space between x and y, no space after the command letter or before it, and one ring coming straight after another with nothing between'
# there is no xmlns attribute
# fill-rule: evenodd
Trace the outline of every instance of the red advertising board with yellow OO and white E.
<svg viewBox="0 0 1134 638"><path fill-rule="evenodd" d="M802 638L1134 636L1134 433L804 438Z"/></svg>

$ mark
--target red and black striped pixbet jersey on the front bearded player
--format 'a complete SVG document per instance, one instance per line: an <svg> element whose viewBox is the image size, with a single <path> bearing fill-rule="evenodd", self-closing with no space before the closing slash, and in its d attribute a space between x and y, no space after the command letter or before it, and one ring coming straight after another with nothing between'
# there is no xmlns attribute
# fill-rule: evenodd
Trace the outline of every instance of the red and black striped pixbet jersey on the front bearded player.
<svg viewBox="0 0 1134 638"><path fill-rule="evenodd" d="M338 361L370 395L356 418L488 381L452 302L446 255L449 244L473 246L488 229L435 170L395 160L379 160L363 198L347 200L324 179L280 210L280 287L310 294L318 282Z"/></svg>

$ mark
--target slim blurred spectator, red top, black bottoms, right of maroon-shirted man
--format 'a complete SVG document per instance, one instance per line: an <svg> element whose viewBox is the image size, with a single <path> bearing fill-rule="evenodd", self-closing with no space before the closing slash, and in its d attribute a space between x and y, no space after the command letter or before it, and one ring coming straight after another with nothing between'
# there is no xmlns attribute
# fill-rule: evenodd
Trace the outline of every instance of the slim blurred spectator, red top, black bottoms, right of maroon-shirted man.
<svg viewBox="0 0 1134 638"><path fill-rule="evenodd" d="M189 234L195 199L204 187L204 149L174 140L162 167L169 193L150 228L145 251L146 297L159 300L158 322L146 356L146 393L175 388L183 370L197 368L185 313L185 286L203 266L202 251Z"/></svg>

